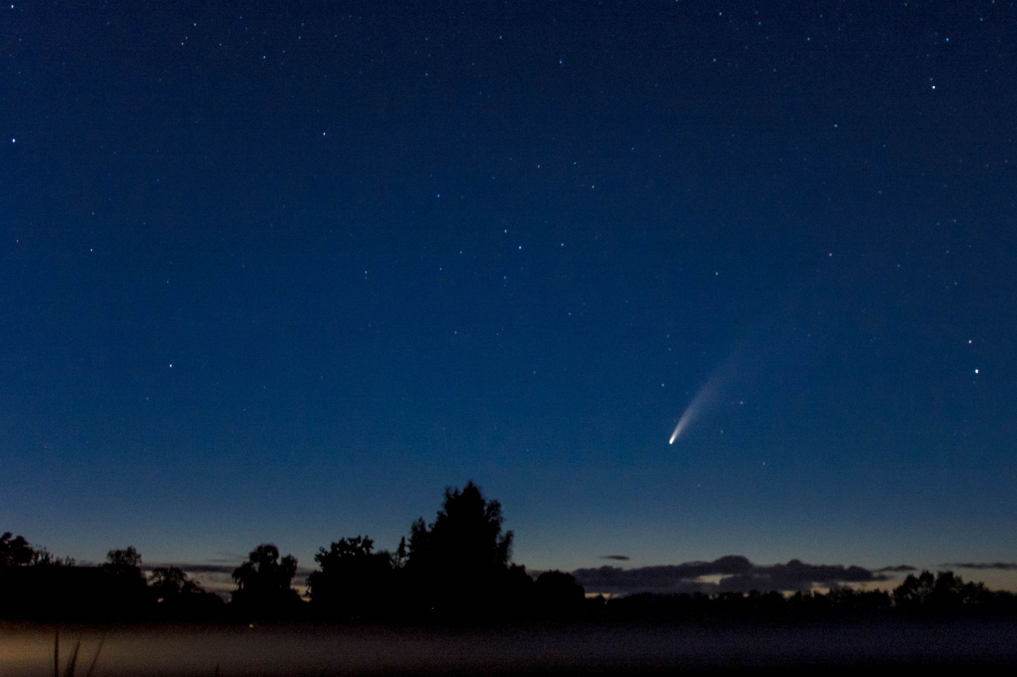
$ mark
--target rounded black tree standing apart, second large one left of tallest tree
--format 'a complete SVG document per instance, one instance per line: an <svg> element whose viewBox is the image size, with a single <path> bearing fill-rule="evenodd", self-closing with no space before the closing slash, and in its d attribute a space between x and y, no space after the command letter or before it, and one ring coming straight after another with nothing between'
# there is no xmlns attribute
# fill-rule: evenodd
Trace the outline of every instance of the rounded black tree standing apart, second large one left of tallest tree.
<svg viewBox="0 0 1017 677"><path fill-rule="evenodd" d="M292 610L300 602L297 591L290 587L296 573L296 557L286 555L280 561L279 548L262 543L251 550L247 561L233 570L233 581L237 584L233 603L255 615Z"/></svg>

